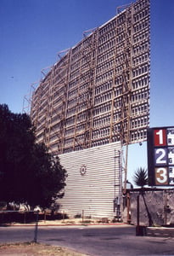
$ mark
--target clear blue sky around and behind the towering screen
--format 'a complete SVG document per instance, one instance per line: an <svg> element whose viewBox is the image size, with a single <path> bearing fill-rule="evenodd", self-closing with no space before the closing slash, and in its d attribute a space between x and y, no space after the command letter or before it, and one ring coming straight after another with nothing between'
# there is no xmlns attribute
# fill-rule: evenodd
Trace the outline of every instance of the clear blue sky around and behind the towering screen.
<svg viewBox="0 0 174 256"><path fill-rule="evenodd" d="M31 84L57 53L131 0L0 0L0 103L21 113ZM151 0L150 126L174 125L174 1ZM146 143L130 146L129 179L147 166Z"/></svg>

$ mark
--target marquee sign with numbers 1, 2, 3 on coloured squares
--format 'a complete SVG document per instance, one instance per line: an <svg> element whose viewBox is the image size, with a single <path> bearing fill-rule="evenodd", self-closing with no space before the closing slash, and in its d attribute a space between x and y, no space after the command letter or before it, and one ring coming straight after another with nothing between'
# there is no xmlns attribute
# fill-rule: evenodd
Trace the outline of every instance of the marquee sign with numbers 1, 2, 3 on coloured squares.
<svg viewBox="0 0 174 256"><path fill-rule="evenodd" d="M174 126L148 129L150 186L174 186Z"/></svg>

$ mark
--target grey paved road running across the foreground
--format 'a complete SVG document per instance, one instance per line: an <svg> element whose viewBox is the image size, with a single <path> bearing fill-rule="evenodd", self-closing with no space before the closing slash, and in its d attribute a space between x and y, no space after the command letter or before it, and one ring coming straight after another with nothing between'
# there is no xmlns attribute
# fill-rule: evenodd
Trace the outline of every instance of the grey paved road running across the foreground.
<svg viewBox="0 0 174 256"><path fill-rule="evenodd" d="M34 227L0 227L0 243L32 241ZM37 241L69 247L92 256L174 255L174 238L135 236L135 227L39 227Z"/></svg>

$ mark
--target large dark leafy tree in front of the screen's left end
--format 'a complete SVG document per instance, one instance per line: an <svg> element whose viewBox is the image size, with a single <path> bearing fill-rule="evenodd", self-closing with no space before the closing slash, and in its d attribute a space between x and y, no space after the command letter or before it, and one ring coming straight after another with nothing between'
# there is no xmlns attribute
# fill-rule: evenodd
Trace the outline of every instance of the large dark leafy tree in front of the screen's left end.
<svg viewBox="0 0 174 256"><path fill-rule="evenodd" d="M35 143L27 114L0 105L0 127L0 201L50 207L64 195L66 172L59 158Z"/></svg>

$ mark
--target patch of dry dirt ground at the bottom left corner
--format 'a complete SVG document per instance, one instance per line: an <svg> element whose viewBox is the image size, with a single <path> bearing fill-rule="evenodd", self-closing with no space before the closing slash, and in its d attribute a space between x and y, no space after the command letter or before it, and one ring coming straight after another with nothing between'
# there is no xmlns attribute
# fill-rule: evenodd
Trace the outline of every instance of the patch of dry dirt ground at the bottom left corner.
<svg viewBox="0 0 174 256"><path fill-rule="evenodd" d="M3 256L87 256L63 247L53 247L39 243L12 243L0 245Z"/></svg>

